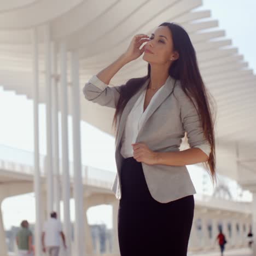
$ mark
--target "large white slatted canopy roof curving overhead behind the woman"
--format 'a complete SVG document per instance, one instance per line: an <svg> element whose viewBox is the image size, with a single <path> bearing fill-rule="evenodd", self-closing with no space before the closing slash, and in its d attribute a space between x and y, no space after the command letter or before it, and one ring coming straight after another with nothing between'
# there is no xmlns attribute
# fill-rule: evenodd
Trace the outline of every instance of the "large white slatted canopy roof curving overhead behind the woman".
<svg viewBox="0 0 256 256"><path fill-rule="evenodd" d="M218 29L218 21L211 19L211 12L194 10L201 4L200 0L2 1L0 85L32 97L31 30L38 27L40 102L44 102L44 25L49 24L52 40L64 41L68 51L79 53L82 120L113 134L114 110L84 100L84 83L117 59L135 34L150 34L161 22L178 22L190 35L203 80L217 103L218 171L237 179L236 145L240 158L255 156L256 79L238 49ZM147 63L139 58L123 67L111 83L120 85L146 73ZM252 170L252 162L246 165L246 170Z"/></svg>

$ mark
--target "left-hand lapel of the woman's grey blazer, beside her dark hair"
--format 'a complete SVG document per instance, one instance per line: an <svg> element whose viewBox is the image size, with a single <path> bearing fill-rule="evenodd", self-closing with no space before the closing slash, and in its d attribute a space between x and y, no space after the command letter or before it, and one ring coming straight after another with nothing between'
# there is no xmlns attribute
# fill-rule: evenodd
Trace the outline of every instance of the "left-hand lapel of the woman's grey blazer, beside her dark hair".
<svg viewBox="0 0 256 256"><path fill-rule="evenodd" d="M121 114L121 118L119 121L119 131L117 134L117 139L115 139L115 147L116 149L119 146L119 143L121 141L121 137L123 135L124 132L124 128L125 128L125 124L126 124L126 120L127 120L127 116L129 115L129 113L131 112L132 107L134 106L134 104L136 103L136 101L138 100L139 95L141 95L142 91L144 89L146 89L147 85L149 82L149 78L146 80L146 82L142 85L141 89L135 94L133 95L130 100L127 102L123 113Z"/></svg>

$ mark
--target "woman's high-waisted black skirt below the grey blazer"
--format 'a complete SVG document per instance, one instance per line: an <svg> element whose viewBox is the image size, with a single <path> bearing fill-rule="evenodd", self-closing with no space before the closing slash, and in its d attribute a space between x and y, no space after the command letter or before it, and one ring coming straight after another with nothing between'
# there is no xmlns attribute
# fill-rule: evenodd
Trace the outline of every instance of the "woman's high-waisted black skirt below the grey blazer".
<svg viewBox="0 0 256 256"><path fill-rule="evenodd" d="M118 240L121 256L187 256L194 196L168 203L153 199L142 164L126 158L121 168Z"/></svg>

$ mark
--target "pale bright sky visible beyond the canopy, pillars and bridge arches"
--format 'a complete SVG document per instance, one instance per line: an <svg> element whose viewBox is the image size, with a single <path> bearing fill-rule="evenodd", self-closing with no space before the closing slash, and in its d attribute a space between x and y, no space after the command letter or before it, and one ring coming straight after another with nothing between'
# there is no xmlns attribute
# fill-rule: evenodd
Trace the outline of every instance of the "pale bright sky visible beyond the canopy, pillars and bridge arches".
<svg viewBox="0 0 256 256"><path fill-rule="evenodd" d="M253 0L205 0L199 9L210 9L212 18L219 20L219 28L226 31L226 38L232 39L232 45L245 56L249 67L256 70L256 36L254 31L256 18L254 11L256 1ZM7 111L8 109L8 111ZM33 112L32 101L14 92L4 91L0 86L0 145L21 149L24 161L32 158L33 150ZM39 106L40 152L46 152L45 137L45 106ZM4 120L4 121L3 121ZM72 156L72 126L69 121L69 156ZM114 138L85 122L81 123L82 161L85 165L95 166L104 170L116 171L114 160ZM21 136L22 135L22 136ZM2 152L6 148L2 147ZM1 152L1 146L0 146ZM13 150L15 153L16 151ZM15 155L15 154L13 154ZM16 154L17 155L17 154ZM98 155L104 156L98 161ZM197 191L202 190L202 170L189 166L191 179ZM197 175L198 174L198 175ZM200 177L200 179L198 178ZM209 193L211 193L211 188ZM10 197L2 203L5 229L11 225L18 226L22 219L34 222L33 194ZM104 212L104 214L102 214ZM19 218L17 217L19 216ZM71 220L74 220L74 202L71 200ZM112 228L112 208L110 206L92 207L88 211L89 224L106 223Z"/></svg>

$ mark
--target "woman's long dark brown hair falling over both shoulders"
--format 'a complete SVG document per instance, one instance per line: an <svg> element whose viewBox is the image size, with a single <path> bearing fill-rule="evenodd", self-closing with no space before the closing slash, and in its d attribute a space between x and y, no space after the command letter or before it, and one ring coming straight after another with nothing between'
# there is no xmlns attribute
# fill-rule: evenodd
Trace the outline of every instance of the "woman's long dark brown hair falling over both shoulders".
<svg viewBox="0 0 256 256"><path fill-rule="evenodd" d="M212 100L213 98L206 90L205 84L203 83L199 67L197 65L195 49L191 43L188 33L183 27L174 23L164 22L159 25L159 27L160 26L166 26L170 29L173 40L173 50L177 51L179 54L179 58L172 62L168 73L172 78L180 80L184 93L189 97L189 100L194 104L194 106L195 103L198 106L197 113L201 119L203 133L211 146L211 153L207 164L210 168L210 176L214 184L216 182L216 153L214 120L212 118L210 108L210 102L213 103L213 101L210 101L210 97ZM122 86L113 119L115 130L117 130L118 115L123 112L126 103L133 95L136 94L139 89L141 89L142 85L148 78L150 78L149 63L148 74L145 77L129 79L125 86ZM192 98L195 102L192 100ZM209 172L208 168L207 171Z"/></svg>

